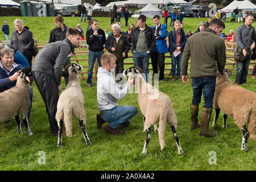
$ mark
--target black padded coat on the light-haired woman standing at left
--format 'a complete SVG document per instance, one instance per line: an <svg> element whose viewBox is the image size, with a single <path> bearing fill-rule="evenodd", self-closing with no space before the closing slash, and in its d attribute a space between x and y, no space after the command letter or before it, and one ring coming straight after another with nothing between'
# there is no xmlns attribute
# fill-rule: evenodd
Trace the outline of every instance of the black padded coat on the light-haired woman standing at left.
<svg viewBox="0 0 256 182"><path fill-rule="evenodd" d="M23 31L19 34L19 39L22 40L22 42L26 44L26 46L19 41L16 32L18 31L15 30L13 34L11 34L11 47L14 49L15 52L19 50L19 52L21 52L23 55L32 55L31 48L35 43L32 32L24 27Z"/></svg>

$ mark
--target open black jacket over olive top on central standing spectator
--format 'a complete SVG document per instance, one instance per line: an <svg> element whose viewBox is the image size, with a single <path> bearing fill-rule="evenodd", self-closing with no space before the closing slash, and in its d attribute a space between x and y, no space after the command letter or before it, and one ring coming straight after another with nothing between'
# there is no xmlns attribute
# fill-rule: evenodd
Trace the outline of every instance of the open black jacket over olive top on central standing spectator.
<svg viewBox="0 0 256 182"><path fill-rule="evenodd" d="M131 51L133 52L136 50L136 46L138 43L139 27L134 28L132 32L133 32L133 34L132 34L132 38L131 38ZM154 35L152 28L148 27L147 24L146 24L145 36L146 36L148 51L152 52L155 47L155 43L156 43L155 35Z"/></svg>

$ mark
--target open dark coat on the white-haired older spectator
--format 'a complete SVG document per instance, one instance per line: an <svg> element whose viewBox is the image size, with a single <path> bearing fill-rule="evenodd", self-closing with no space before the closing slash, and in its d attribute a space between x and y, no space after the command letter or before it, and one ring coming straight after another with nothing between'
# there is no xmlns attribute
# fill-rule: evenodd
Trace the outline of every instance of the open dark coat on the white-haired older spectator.
<svg viewBox="0 0 256 182"><path fill-rule="evenodd" d="M126 59L128 57L128 52L130 50L131 45L126 34L123 34L123 32L120 32L120 34L122 34L121 39L123 40L123 52L126 53L126 56L123 59ZM108 49L110 53L113 53L111 51L111 48L114 47L114 41L114 34L109 34L108 39L106 40L105 48Z"/></svg>

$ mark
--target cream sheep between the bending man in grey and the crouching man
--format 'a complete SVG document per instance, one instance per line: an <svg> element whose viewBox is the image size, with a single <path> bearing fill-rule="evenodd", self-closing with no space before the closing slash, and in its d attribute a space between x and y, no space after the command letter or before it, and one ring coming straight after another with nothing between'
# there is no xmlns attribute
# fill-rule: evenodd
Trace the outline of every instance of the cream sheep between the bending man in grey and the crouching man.
<svg viewBox="0 0 256 182"><path fill-rule="evenodd" d="M55 117L59 126L57 147L61 147L63 122L67 137L72 136L73 115L79 119L85 142L88 144L88 146L90 146L90 139L85 129L86 113L84 110L84 95L82 94L79 81L79 73L82 71L82 66L72 63L65 67L64 71L67 72L67 70L69 82L65 90L60 94L60 98L57 102L57 111Z"/></svg>

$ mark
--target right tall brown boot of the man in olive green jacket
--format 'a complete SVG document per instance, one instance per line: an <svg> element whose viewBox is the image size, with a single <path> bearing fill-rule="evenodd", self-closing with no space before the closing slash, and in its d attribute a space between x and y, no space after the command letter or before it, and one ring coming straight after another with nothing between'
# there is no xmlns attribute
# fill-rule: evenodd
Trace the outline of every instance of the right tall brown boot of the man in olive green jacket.
<svg viewBox="0 0 256 182"><path fill-rule="evenodd" d="M201 131L200 136L203 135L204 137L214 137L218 134L217 131L209 130L209 122L210 117L212 116L212 108L207 109L203 107L201 113Z"/></svg>

